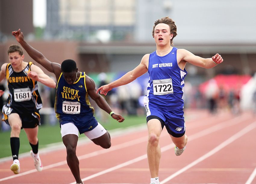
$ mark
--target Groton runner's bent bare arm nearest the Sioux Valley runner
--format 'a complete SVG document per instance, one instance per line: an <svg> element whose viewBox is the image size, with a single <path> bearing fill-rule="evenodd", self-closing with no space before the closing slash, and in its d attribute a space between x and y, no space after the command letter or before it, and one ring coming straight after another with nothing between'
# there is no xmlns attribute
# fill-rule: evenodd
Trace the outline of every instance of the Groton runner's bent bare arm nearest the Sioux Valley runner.
<svg viewBox="0 0 256 184"><path fill-rule="evenodd" d="M52 88L56 87L55 81L52 78L50 78L48 75L46 75L41 68L39 68L36 65L31 65L30 68L31 68L31 72L28 73L28 76L30 78L32 78L33 80L42 82L48 87L52 87Z"/></svg>

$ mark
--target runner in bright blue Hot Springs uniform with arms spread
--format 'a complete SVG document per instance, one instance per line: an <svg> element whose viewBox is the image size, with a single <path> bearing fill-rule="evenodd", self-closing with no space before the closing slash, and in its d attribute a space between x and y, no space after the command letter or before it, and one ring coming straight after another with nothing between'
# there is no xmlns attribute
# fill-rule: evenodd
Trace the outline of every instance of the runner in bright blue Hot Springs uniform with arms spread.
<svg viewBox="0 0 256 184"><path fill-rule="evenodd" d="M144 73L149 73L148 94L144 98L148 125L148 164L151 183L158 184L161 150L159 137L165 126L175 144L175 154L183 153L187 144L183 112L183 87L187 74L185 65L191 63L203 68L212 68L223 62L219 54L212 58L195 56L185 49L172 47L177 28L172 19L163 17L155 21L152 36L156 51L145 54L135 69L110 84L101 86L97 92L106 95L114 87L128 84Z"/></svg>

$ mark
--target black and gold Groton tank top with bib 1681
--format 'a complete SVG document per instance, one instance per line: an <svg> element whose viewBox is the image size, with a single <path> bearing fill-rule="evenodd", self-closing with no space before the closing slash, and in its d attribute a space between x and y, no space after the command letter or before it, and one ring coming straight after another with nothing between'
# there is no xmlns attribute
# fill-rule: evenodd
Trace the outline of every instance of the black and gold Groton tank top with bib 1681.
<svg viewBox="0 0 256 184"><path fill-rule="evenodd" d="M34 112L42 108L42 100L38 92L37 81L27 76L33 63L29 62L21 72L14 72L11 63L6 66L8 82L8 99L6 106L12 109Z"/></svg>

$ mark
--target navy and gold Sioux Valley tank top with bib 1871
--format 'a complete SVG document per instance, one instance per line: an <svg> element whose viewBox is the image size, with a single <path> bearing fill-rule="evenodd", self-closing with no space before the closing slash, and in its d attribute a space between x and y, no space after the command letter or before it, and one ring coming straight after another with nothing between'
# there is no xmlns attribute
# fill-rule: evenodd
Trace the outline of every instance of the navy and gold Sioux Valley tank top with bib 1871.
<svg viewBox="0 0 256 184"><path fill-rule="evenodd" d="M94 109L89 102L85 79L85 72L80 72L79 79L70 85L61 73L55 98L55 112L58 120L61 115L92 114L93 116Z"/></svg>

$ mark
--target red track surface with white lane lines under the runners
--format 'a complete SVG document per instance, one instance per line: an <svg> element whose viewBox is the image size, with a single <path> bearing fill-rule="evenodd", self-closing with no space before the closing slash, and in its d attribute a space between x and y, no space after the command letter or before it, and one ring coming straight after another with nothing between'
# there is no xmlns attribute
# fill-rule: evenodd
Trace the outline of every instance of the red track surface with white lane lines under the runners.
<svg viewBox="0 0 256 184"><path fill-rule="evenodd" d="M252 114L218 115L186 111L187 149L174 154L164 129L161 138L159 179L163 183L256 183L256 118ZM145 183L150 181L146 157L147 129L122 133L111 139L110 149L92 142L77 147L84 183ZM0 163L0 183L72 183L66 150L40 154L44 170L37 172L30 157L20 158L21 172L14 175L12 161Z"/></svg>

